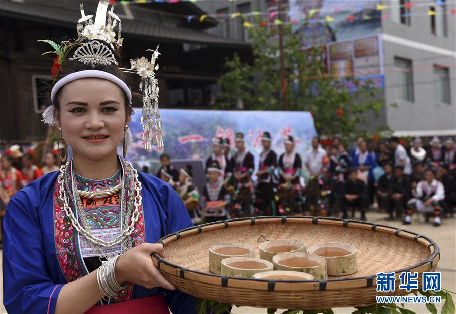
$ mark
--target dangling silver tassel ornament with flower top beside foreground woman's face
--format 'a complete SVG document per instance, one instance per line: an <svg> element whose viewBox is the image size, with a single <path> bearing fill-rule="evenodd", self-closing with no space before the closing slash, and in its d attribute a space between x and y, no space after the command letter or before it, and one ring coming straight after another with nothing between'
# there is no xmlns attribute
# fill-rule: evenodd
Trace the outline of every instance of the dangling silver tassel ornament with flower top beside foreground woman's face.
<svg viewBox="0 0 456 314"><path fill-rule="evenodd" d="M139 89L143 92L143 116L141 117L141 124L143 124L142 140L145 141L145 149L151 149L151 145L157 145L158 148L164 146L161 117L158 110L158 93L160 89L158 88L158 80L154 72L158 70L158 64L155 65L155 61L160 55L158 47L155 50L147 50L153 52L150 61L145 57L130 60L131 70L141 76Z"/></svg>

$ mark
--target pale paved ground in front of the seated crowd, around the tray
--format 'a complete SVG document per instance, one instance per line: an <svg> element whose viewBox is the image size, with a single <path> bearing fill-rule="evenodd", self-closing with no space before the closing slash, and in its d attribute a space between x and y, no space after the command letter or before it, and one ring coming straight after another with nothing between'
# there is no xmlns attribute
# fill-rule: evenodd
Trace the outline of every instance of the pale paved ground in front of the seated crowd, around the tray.
<svg viewBox="0 0 456 314"><path fill-rule="evenodd" d="M367 213L367 219L369 222L389 224L394 227L402 226L400 222L384 221L384 216L384 214L377 212ZM415 217L415 219L418 219L418 217ZM442 226L439 228L433 227L431 223L414 221L412 225L406 226L404 229L426 235L438 244L441 254L437 271L442 273L442 287L451 291L456 291L456 218L445 219ZM2 268L1 255L2 251L0 250L0 269ZM3 282L3 272L0 272L0 282ZM2 289L0 290L3 291L3 284ZM6 313L6 310L3 307L3 293L0 294L0 304L0 313ZM439 313L440 307L437 306L437 311ZM407 308L415 311L417 314L428 313L424 305L408 305ZM345 314L351 313L353 310L353 308L336 308L334 309L334 312L336 314ZM266 309L253 307L233 308L233 313L236 314L266 314L266 312ZM280 312L283 311L278 311L278 313Z"/></svg>

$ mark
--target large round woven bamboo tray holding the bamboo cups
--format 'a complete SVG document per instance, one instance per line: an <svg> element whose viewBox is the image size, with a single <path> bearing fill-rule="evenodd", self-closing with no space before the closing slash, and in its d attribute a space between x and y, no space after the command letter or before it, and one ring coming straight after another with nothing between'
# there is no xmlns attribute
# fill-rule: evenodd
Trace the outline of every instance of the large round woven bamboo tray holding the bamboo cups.
<svg viewBox="0 0 456 314"><path fill-rule="evenodd" d="M239 242L250 244L259 257L261 241L302 239L307 246L343 242L357 248L358 271L317 281L274 281L222 277L209 273L209 247ZM258 242L260 241L260 242ZM405 295L399 289L403 271L434 271L439 248L428 237L377 224L323 217L239 218L195 226L160 239L166 259L153 255L155 266L180 291L243 306L326 309L367 306L376 295ZM377 292L376 273L396 272L395 291ZM419 275L419 287L422 276Z"/></svg>

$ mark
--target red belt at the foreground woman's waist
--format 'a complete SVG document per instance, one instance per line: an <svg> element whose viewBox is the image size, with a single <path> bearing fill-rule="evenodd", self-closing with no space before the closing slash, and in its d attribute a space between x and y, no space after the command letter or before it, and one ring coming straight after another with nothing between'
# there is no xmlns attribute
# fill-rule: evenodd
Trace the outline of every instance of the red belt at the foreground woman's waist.
<svg viewBox="0 0 456 314"><path fill-rule="evenodd" d="M165 296L152 296L107 305L92 306L86 314L154 313L169 314Z"/></svg>

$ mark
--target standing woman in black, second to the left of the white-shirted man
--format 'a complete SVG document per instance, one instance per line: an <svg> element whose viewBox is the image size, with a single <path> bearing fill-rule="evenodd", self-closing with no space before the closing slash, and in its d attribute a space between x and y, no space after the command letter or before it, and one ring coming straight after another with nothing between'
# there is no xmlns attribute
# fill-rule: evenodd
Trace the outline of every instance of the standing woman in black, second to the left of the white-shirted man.
<svg viewBox="0 0 456 314"><path fill-rule="evenodd" d="M261 138L263 151L260 154L260 165L257 172L257 207L260 215L272 214L272 200L275 195L274 189L277 186L275 168L277 167L277 154L271 149L271 135L264 132Z"/></svg>

